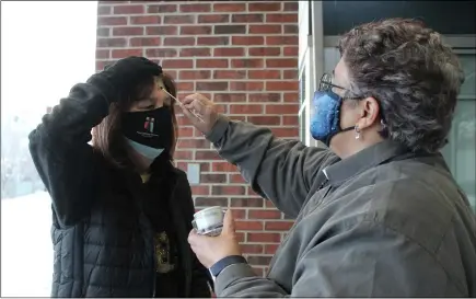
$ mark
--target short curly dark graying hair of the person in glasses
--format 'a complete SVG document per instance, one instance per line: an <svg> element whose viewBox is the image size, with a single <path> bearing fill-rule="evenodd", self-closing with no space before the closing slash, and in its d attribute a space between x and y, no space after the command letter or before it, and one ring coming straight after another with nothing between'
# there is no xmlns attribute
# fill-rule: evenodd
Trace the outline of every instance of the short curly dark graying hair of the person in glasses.
<svg viewBox="0 0 476 299"><path fill-rule="evenodd" d="M445 145L464 72L439 33L421 21L388 19L352 28L339 50L351 93L379 101L384 138L413 151Z"/></svg>

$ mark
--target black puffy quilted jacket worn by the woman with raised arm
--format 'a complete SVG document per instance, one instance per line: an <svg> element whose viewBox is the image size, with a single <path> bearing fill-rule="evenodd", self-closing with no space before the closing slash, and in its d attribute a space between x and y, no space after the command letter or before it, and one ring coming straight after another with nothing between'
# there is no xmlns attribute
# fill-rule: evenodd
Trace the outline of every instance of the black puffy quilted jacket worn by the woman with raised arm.
<svg viewBox="0 0 476 299"><path fill-rule="evenodd" d="M53 199L51 297L155 292L154 231L143 208L140 176L113 168L88 143L91 129L107 113L101 90L78 84L30 135L33 161ZM194 214L188 181L171 163L165 171L170 196L156 197L169 200L182 296L210 297L208 272L187 242ZM151 181L154 175L152 168Z"/></svg>

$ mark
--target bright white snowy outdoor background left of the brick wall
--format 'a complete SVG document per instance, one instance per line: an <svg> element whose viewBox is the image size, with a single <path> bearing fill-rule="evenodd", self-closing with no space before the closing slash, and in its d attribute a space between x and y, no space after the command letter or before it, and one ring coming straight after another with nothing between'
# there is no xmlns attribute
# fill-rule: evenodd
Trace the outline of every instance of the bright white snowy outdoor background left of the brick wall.
<svg viewBox="0 0 476 299"><path fill-rule="evenodd" d="M50 199L27 136L94 72L97 2L3 1L1 8L1 297L49 297Z"/></svg>

